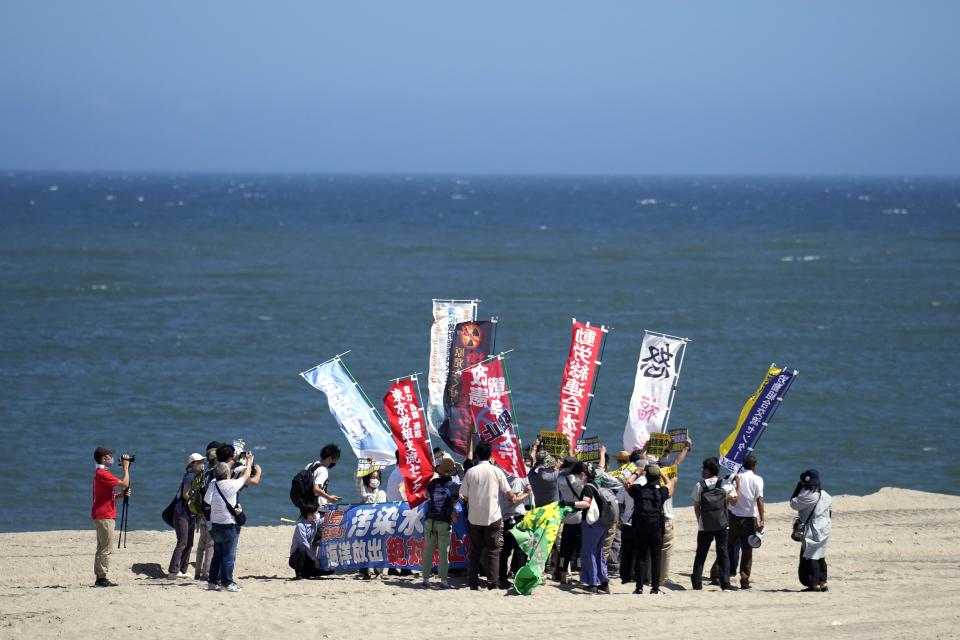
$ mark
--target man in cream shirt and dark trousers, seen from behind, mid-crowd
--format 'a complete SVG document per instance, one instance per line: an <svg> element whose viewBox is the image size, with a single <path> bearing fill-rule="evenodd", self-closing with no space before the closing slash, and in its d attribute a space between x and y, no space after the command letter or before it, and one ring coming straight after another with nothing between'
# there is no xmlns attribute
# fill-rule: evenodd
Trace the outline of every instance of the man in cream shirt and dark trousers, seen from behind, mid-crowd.
<svg viewBox="0 0 960 640"><path fill-rule="evenodd" d="M489 442L477 444L474 453L478 462L463 476L460 499L467 504L470 528L470 574L467 582L472 591L477 591L480 588L481 557L487 568L487 588L496 589L498 585L500 548L503 546L500 494L506 494L511 502L519 502L523 498L510 489L507 476L490 464Z"/></svg>

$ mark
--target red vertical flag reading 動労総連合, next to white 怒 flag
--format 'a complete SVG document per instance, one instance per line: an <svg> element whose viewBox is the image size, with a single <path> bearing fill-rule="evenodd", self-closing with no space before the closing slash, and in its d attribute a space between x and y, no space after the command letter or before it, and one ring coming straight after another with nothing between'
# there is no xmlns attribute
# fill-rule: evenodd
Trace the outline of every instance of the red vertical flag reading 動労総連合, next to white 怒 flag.
<svg viewBox="0 0 960 640"><path fill-rule="evenodd" d="M589 323L573 321L570 355L560 383L557 431L567 434L567 440L574 447L583 433L583 424L593 398L593 385L600 368L600 349L605 333L602 326L591 327Z"/></svg>

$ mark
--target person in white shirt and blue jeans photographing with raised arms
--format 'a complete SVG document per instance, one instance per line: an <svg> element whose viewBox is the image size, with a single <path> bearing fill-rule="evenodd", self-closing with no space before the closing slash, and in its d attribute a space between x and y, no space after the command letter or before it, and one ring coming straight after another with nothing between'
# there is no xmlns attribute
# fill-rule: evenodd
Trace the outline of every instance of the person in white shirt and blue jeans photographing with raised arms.
<svg viewBox="0 0 960 640"><path fill-rule="evenodd" d="M213 560L210 562L210 577L207 579L207 589L210 591L240 591L240 586L233 581L237 540L240 538L240 526L234 513L237 494L250 479L252 468L252 452L247 453L246 468L238 478L229 479L230 466L227 463L217 464L213 471L214 481L207 487L207 493L203 497L204 502L210 505L210 534L213 538Z"/></svg>

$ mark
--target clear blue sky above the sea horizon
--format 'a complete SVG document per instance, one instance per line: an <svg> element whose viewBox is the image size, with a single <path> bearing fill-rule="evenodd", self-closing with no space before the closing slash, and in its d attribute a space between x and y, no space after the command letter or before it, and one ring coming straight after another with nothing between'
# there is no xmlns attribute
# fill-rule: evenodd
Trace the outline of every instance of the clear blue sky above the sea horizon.
<svg viewBox="0 0 960 640"><path fill-rule="evenodd" d="M960 174L960 3L0 5L0 168Z"/></svg>

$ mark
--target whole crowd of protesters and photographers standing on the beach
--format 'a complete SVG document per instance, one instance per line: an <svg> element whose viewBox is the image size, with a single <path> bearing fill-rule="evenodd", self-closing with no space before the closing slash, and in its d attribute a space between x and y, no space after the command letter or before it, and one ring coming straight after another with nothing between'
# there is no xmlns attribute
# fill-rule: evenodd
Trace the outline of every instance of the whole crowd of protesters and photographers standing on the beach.
<svg viewBox="0 0 960 640"><path fill-rule="evenodd" d="M442 449L434 449L435 473L425 492L422 557L427 564L419 571L423 586L431 585L436 551L439 587L454 588L448 580L451 529L458 517L466 517L470 539L467 585L472 590L511 588L511 580L527 559L510 530L523 520L527 510L556 502L569 509L545 567L545 575L556 584L610 593L610 581L619 578L622 584L632 584L635 594L643 594L648 587L648 593L654 596L664 595L665 588L686 588L671 572L677 475L667 477L662 469L671 466L675 472L692 445L692 439L688 439L679 452L668 451L661 456L650 455L646 447L621 451L613 456L615 462L632 466L629 472L620 468L615 473L609 470L607 452L602 447L598 463L585 463L573 455L560 459L552 456L538 438L527 451L526 478L509 476L497 467L491 461L488 443L471 447L462 465ZM104 447L98 447L94 453L94 571L95 585L99 587L115 586L107 578L115 501L129 495L130 486L130 460L126 456L121 458L121 478L109 472L113 453ZM328 444L319 459L301 472L306 478L308 498L299 503L300 518L294 526L288 558L297 579L323 578L334 573L324 567L320 541L327 507L341 501L340 496L328 491L330 471L340 456L340 448ZM709 583L723 591L736 591L738 586L733 579L738 577L739 589L752 588L753 551L760 546L765 532L763 479L757 470L758 461L752 453L744 459L741 472L725 479L720 478L717 458L703 460L702 479L690 489L697 519L696 553L689 584L692 589L703 588L711 547L716 560L708 572ZM245 488L259 484L261 478L262 471L254 463L253 453L236 451L229 444L211 442L205 456L193 453L187 458L173 508L176 545L168 566L169 578L189 578L190 554L195 532L199 531L194 578L205 581L212 591L240 591L233 577L237 541L245 522L239 496ZM361 504L406 499L403 478L397 469L386 486L381 483L379 470L358 478L357 492ZM458 504L462 505L460 509ZM790 506L798 512L800 582L808 591L827 591L831 498L823 491L816 470L801 474ZM413 572L407 569L391 573ZM383 578L383 572L377 566L361 566L359 577Z"/></svg>

